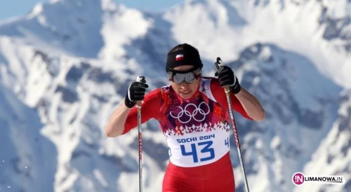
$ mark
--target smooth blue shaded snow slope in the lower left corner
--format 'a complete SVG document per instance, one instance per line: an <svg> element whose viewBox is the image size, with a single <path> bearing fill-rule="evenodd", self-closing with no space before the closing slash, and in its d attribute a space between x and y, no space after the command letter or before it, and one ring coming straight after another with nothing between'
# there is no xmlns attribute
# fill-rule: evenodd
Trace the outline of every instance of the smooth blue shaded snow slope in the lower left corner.
<svg viewBox="0 0 351 192"><path fill-rule="evenodd" d="M55 145L41 132L38 112L0 85L0 189L52 191Z"/></svg>

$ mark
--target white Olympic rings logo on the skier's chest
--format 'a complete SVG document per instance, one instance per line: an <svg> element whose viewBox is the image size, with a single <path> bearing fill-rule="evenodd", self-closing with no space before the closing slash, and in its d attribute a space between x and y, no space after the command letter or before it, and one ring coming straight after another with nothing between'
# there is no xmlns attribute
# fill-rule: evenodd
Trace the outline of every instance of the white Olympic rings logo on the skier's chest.
<svg viewBox="0 0 351 192"><path fill-rule="evenodd" d="M189 107L194 107L194 110L193 112L191 113L188 108ZM202 106L202 107L201 107ZM176 109L179 108L180 109L180 112L178 112L177 115L173 114L172 111L177 111ZM207 108L207 110L204 110L204 108ZM201 114L203 117L201 119L199 119L199 117L196 117L196 115ZM187 104L184 109L181 108L180 106L177 106L175 108L173 108L171 111L170 111L170 115L173 117L173 118L177 118L179 122L181 123L188 123L191 121L191 119L194 119L195 121L197 122L201 122L201 121L204 121L205 118L206 118L206 115L210 113L210 106L208 106L207 103L205 102L201 102L199 104L199 106L196 106L195 104L193 103L189 103ZM184 120L184 116L187 117L186 120ZM182 119L181 119L182 118Z"/></svg>

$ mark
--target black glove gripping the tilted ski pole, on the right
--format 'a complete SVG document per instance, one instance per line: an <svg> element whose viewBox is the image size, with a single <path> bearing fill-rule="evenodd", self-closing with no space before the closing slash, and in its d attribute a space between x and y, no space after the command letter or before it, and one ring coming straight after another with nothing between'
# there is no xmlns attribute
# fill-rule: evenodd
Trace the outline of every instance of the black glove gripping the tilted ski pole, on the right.
<svg viewBox="0 0 351 192"><path fill-rule="evenodd" d="M238 78L234 75L233 70L228 66L222 66L214 74L218 76L219 83L222 87L229 85L230 92L237 94L240 91L240 84Z"/></svg>

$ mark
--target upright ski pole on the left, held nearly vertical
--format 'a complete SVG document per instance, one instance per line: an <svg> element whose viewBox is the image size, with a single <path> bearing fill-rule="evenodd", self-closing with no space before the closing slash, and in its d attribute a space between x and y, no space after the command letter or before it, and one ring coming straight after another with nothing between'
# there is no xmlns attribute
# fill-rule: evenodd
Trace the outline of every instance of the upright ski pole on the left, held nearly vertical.
<svg viewBox="0 0 351 192"><path fill-rule="evenodd" d="M138 76L137 82L146 83L144 76ZM139 192L143 192L143 159L142 159L142 142L141 142L141 101L137 101L138 111L138 152L139 152Z"/></svg>

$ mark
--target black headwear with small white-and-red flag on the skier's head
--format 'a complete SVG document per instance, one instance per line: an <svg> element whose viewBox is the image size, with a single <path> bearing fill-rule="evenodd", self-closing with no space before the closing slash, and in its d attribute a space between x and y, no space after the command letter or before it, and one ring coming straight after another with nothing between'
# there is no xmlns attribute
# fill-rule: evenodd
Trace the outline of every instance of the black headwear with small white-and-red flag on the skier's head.
<svg viewBox="0 0 351 192"><path fill-rule="evenodd" d="M203 67L198 50L187 43L179 44L168 52L166 70L184 65Z"/></svg>

